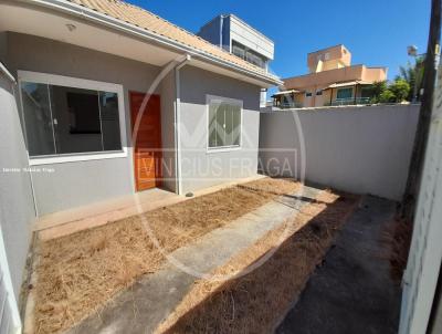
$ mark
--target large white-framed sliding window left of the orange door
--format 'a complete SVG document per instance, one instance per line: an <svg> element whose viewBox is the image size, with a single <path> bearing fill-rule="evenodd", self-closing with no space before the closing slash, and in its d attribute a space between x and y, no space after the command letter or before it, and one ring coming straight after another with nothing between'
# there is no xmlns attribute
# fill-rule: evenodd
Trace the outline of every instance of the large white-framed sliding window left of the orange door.
<svg viewBox="0 0 442 334"><path fill-rule="evenodd" d="M31 160L125 152L122 86L33 72L19 72L19 81Z"/></svg>

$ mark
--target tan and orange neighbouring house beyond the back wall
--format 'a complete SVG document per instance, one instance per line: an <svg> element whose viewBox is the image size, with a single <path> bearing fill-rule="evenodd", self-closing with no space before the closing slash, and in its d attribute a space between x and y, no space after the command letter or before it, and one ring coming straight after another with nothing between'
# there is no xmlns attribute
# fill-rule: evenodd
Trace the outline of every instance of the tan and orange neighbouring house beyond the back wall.
<svg viewBox="0 0 442 334"><path fill-rule="evenodd" d="M317 107L367 104L371 85L387 80L387 67L351 65L351 53L343 44L307 55L308 74L284 79L284 88L275 93L277 107Z"/></svg>

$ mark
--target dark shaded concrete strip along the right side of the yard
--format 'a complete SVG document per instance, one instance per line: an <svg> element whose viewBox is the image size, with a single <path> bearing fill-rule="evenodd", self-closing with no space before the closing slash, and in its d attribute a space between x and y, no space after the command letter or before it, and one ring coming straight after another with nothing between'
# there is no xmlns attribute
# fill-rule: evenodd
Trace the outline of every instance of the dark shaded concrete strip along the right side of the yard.
<svg viewBox="0 0 442 334"><path fill-rule="evenodd" d="M277 333L397 333L400 288L380 238L394 203L365 197Z"/></svg>

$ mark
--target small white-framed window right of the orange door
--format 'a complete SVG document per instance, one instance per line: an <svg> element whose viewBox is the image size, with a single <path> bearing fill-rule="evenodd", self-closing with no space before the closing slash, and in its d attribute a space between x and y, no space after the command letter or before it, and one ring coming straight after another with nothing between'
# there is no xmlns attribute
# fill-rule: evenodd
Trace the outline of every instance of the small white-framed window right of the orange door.
<svg viewBox="0 0 442 334"><path fill-rule="evenodd" d="M209 102L209 148L241 143L241 103L212 98Z"/></svg>

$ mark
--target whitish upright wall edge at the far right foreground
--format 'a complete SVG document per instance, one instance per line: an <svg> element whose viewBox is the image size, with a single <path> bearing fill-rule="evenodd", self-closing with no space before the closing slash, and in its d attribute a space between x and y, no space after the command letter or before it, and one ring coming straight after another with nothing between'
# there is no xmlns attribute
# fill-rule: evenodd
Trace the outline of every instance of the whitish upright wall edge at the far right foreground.
<svg viewBox="0 0 442 334"><path fill-rule="evenodd" d="M428 328L442 261L442 66L438 70L429 140L425 150L413 237L402 278L399 333L441 333L441 304L434 305L434 327Z"/></svg>

